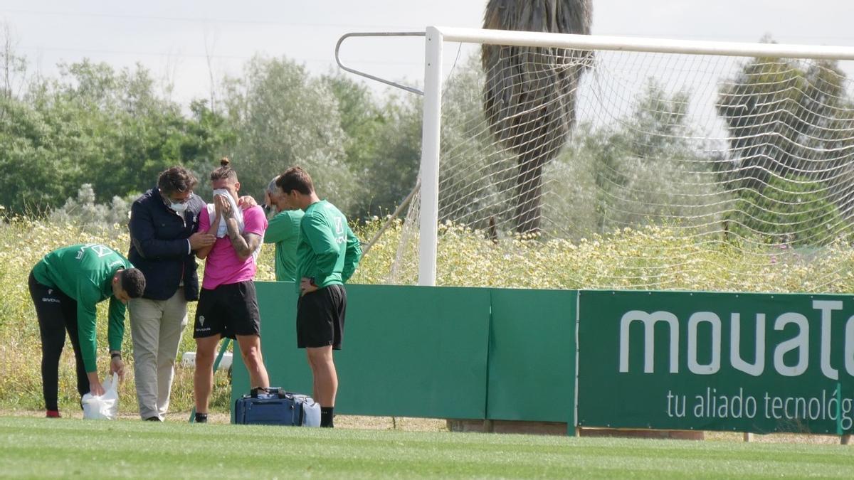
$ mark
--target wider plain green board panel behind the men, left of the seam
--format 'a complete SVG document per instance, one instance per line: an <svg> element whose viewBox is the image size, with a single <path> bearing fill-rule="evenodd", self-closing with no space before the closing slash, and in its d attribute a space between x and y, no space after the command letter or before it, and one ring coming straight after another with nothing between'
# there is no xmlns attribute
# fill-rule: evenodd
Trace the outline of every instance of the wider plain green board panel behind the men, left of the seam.
<svg viewBox="0 0 854 480"><path fill-rule="evenodd" d="M270 382L310 395L306 352L296 348L294 285L255 287ZM489 290L351 284L347 296L336 413L485 418ZM232 381L233 407L249 392L243 362Z"/></svg>

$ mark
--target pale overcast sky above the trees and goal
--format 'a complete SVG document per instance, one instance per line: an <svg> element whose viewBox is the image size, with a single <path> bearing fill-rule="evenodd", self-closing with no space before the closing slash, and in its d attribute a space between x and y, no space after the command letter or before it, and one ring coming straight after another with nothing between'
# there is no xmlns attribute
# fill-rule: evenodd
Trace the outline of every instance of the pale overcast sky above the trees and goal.
<svg viewBox="0 0 854 480"><path fill-rule="evenodd" d="M174 85L175 100L187 102L208 97L211 73L214 79L239 74L255 54L287 56L324 73L335 66L333 50L343 33L477 27L485 5L486 0L4 0L0 21L31 72L54 74L57 62L84 57L116 67L138 61ZM603 35L755 42L769 33L781 43L854 45L851 18L854 2L845 0L594 0L594 33ZM423 76L423 52L418 38L354 40L344 44L342 57L378 76L416 83Z"/></svg>

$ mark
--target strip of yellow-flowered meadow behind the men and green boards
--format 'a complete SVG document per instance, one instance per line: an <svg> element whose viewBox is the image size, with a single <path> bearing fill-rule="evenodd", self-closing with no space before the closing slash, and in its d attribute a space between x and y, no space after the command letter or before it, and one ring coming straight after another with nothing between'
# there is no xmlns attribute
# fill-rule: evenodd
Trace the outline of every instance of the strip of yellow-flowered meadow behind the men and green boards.
<svg viewBox="0 0 854 480"><path fill-rule="evenodd" d="M356 234L372 237L382 221L360 223ZM382 284L401 235L395 223L374 245L351 280L357 284ZM125 225L63 223L57 220L32 220L12 217L0 222L0 408L39 409L42 407L39 374L40 341L32 301L26 290L26 276L32 266L52 249L72 243L105 243L125 251L129 238ZM664 227L640 230L624 229L607 237L595 236L573 243L567 240L543 241L539 238L513 237L499 243L485 238L481 231L442 225L438 255L438 284L498 286L533 289L596 288L623 278L619 288L646 285L650 278L663 278L658 288L671 290L714 291L854 291L854 251L846 245L831 245L821 256L804 257L777 263L769 257L769 247L748 244L734 248L719 243L715 248L700 245L691 237L675 236ZM676 253L675 253L676 252ZM272 281L273 249L262 250L257 279ZM663 264L662 256L671 261ZM412 266L415 268L415 266ZM829 275L847 272L838 278ZM442 273L447 272L447 273ZM200 268L200 275L202 269ZM816 284L816 279L834 278L832 283ZM106 344L106 302L98 309L98 344ZM190 319L195 313L190 303ZM125 345L129 367L128 380L120 389L121 411L134 411L132 343L126 329ZM179 348L194 351L190 331L185 331ZM102 352L103 353L103 352ZM107 355L100 355L100 371L107 371ZM67 344L61 361L61 408L76 408L73 354ZM218 374L213 409L227 410L231 390L224 372ZM173 386L172 411L192 407L192 370L178 366Z"/></svg>

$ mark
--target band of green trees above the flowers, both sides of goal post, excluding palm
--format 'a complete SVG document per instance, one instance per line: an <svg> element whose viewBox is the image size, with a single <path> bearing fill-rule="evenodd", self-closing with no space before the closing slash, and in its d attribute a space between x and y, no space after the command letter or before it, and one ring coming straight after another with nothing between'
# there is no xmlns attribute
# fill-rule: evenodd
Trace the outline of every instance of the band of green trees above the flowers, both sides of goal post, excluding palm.
<svg viewBox="0 0 854 480"><path fill-rule="evenodd" d="M393 211L416 183L420 97L378 97L352 75L312 75L285 57L255 57L242 75L219 79L218 91L189 105L174 102L169 85L143 67L81 61L50 78L30 73L9 45L0 50L0 79L7 214L73 210L84 184L91 185L86 199L118 211L175 164L190 167L208 196L205 180L223 155L253 196L285 167L305 166L320 195L354 219ZM562 233L574 240L692 218L729 220L742 227L737 235L773 243L779 225L769 221L794 225L812 215L835 230L798 225L798 240L832 243L854 214L849 79L833 61L755 58L723 80L716 106L726 152L698 139L688 112L693 92L650 79L631 111L609 126L580 121L548 163L545 218L573 225ZM490 218L501 225L515 205L516 159L485 127L484 81L472 56L455 65L443 92L442 220L474 228Z"/></svg>

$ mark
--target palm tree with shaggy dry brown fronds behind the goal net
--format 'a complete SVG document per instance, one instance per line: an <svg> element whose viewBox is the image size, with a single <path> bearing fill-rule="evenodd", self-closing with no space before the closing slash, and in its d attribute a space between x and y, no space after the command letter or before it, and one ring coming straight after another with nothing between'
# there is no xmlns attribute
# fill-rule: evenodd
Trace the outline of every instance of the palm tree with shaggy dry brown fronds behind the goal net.
<svg viewBox="0 0 854 480"><path fill-rule="evenodd" d="M590 33L593 0L489 0L483 28ZM519 232L540 230L542 169L576 121L575 91L592 52L483 44L483 109L489 129L517 155Z"/></svg>

